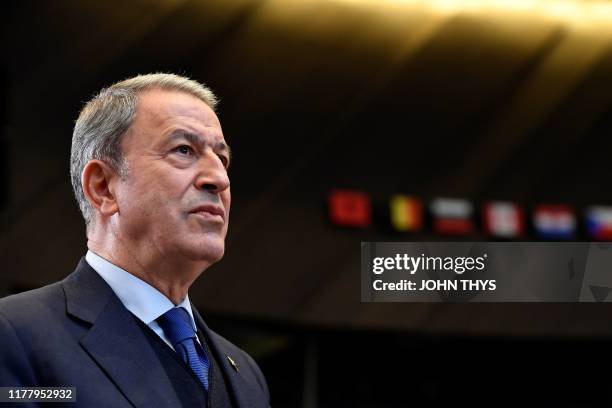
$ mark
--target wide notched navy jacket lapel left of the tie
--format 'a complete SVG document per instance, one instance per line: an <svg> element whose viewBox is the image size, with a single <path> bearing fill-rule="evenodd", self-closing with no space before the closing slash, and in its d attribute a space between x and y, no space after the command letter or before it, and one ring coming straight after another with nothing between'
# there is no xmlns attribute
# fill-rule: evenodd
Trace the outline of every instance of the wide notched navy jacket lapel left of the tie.
<svg viewBox="0 0 612 408"><path fill-rule="evenodd" d="M63 282L67 312L92 324L81 346L136 407L180 406L135 317L85 262Z"/></svg>

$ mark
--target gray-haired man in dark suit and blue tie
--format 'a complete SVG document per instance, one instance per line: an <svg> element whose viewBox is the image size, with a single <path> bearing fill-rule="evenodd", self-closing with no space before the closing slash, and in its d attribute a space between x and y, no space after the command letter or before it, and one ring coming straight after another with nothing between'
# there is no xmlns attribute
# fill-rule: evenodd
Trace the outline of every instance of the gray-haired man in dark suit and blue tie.
<svg viewBox="0 0 612 408"><path fill-rule="evenodd" d="M187 295L222 258L228 227L215 105L172 74L85 105L71 177L89 251L63 281L0 300L0 386L75 387L83 407L269 406L257 364Z"/></svg>

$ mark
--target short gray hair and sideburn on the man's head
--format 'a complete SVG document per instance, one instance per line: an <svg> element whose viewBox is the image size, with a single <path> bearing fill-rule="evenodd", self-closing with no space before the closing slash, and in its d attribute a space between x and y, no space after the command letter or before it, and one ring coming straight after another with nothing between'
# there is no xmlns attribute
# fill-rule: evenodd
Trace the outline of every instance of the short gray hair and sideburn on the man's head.
<svg viewBox="0 0 612 408"><path fill-rule="evenodd" d="M121 139L128 132L138 107L138 93L149 89L181 91L201 99L215 110L217 97L205 85L175 74L138 75L103 89L85 104L74 125L70 154L70 178L87 229L95 212L83 193L81 174L90 160L102 160L127 176Z"/></svg>

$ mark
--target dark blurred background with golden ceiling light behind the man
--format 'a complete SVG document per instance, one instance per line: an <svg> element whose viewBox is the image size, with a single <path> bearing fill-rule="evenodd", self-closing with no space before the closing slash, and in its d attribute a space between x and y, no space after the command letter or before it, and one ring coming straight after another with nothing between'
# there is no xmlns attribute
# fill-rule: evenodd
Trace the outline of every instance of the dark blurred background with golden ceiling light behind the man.
<svg viewBox="0 0 612 408"><path fill-rule="evenodd" d="M68 174L83 103L174 72L220 96L234 153L226 257L190 297L260 363L273 406L612 402L609 304L368 304L359 279L361 241L491 239L394 231L393 194L612 204L612 2L56 0L2 14L0 295L85 254ZM331 223L337 189L365 192L371 222Z"/></svg>

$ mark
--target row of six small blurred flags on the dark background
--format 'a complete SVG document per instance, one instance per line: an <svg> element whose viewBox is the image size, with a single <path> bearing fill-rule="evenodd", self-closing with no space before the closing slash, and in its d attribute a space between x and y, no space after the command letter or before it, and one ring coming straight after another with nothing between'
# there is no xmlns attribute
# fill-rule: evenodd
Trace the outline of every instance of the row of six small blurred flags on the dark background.
<svg viewBox="0 0 612 408"><path fill-rule="evenodd" d="M430 216L431 230L441 235L461 236L476 232L474 205L465 199L436 198L426 213L423 201L415 196L396 194L388 202L388 220L399 232L421 232ZM328 197L329 218L340 227L367 228L372 224L372 199L352 190L333 190ZM517 239L526 234L523 208L513 202L490 201L481 207L481 227L491 237ZM565 204L539 204L533 207L531 226L543 240L576 238L576 211ZM584 229L593 241L612 241L612 207L590 206L584 212Z"/></svg>

